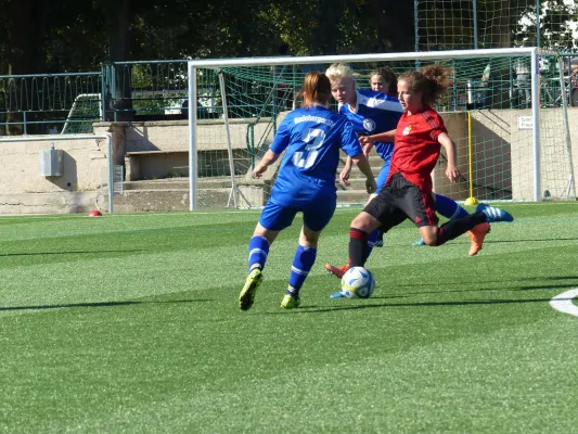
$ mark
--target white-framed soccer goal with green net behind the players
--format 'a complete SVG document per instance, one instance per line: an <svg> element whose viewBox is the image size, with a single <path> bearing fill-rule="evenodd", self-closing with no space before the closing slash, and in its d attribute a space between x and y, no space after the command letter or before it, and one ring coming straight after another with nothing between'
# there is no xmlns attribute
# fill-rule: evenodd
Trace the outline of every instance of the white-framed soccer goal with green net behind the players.
<svg viewBox="0 0 578 434"><path fill-rule="evenodd" d="M251 170L283 116L299 104L305 75L335 62L354 68L358 89L369 88L376 67L400 75L438 63L451 72L436 108L458 145L462 178L455 184L447 180L442 156L432 174L436 192L471 202L576 197L566 99L558 98L565 89L561 60L518 48L191 61L191 209L207 166L227 174L228 206L268 199L274 169L261 184L251 180ZM203 110L207 88L216 89L213 118Z"/></svg>

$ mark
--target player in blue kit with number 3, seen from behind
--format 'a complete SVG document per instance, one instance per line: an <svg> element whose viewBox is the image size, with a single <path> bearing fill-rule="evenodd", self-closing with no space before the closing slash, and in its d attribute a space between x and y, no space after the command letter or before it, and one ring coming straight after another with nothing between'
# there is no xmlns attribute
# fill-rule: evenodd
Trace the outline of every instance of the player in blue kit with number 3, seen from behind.
<svg viewBox="0 0 578 434"><path fill-rule="evenodd" d="M242 310L253 306L255 293L262 281L269 246L281 230L291 226L298 212L303 213L304 226L281 307L299 306L299 291L316 260L319 235L335 212L335 171L339 150L350 156L365 175L368 193L376 189L371 167L351 124L345 116L326 107L332 98L329 78L318 72L307 74L303 98L301 107L286 115L270 149L253 170L253 176L259 177L285 151L271 197L249 241L249 273L239 295Z"/></svg>

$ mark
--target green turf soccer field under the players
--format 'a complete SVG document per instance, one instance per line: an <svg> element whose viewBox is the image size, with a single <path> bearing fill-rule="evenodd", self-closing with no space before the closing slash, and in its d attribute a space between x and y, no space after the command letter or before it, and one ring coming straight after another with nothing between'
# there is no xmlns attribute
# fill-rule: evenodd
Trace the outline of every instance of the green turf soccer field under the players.
<svg viewBox="0 0 578 434"><path fill-rule="evenodd" d="M338 209L295 310L300 220L241 311L258 212L0 218L0 431L577 433L578 203L501 206L476 257L395 228L363 301Z"/></svg>

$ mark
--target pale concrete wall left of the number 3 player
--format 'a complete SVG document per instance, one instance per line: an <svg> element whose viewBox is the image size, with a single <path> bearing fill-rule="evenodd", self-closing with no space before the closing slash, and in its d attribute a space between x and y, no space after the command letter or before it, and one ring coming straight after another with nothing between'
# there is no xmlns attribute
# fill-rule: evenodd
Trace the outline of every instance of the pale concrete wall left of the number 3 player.
<svg viewBox="0 0 578 434"><path fill-rule="evenodd" d="M270 140L269 120L251 128L258 141ZM254 119L230 122L230 137L234 157L242 159L246 153L246 133ZM113 162L125 165L130 152L166 151L165 158L144 159L138 179L164 177L175 169L188 176L189 126L187 120L147 123L94 124L94 133L111 133ZM60 177L40 176L40 151L50 149L46 142L1 143L0 152L0 214L68 214L89 209L107 209L107 196L101 192L108 167L105 140L55 141L54 148L63 151L64 170ZM222 175L229 174L227 137L223 122L201 120L197 130L198 174L209 175L219 166ZM174 154L170 154L174 152ZM242 162L235 169L241 170ZM166 167L165 167L166 166ZM183 167L185 167L183 169Z"/></svg>

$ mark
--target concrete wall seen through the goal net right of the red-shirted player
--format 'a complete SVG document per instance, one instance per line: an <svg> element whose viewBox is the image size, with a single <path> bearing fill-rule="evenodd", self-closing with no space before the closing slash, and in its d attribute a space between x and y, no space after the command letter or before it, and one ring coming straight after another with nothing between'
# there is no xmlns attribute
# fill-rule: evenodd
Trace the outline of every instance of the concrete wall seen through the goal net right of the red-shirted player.
<svg viewBox="0 0 578 434"><path fill-rule="evenodd" d="M467 162L468 137L473 150L474 197L481 200L534 200L534 143L532 131L518 128L519 116L531 116L524 111L471 112L472 133L467 131L467 114L445 114L450 136L458 145L459 168L463 179L450 184L445 176L445 165L434 170L436 192L455 200L470 196L470 168ZM540 194L548 191L552 197L567 194L570 167L565 140L565 124L558 110L541 110L540 156L542 161ZM568 108L573 165L578 171L578 107Z"/></svg>

